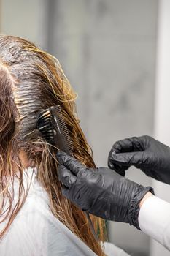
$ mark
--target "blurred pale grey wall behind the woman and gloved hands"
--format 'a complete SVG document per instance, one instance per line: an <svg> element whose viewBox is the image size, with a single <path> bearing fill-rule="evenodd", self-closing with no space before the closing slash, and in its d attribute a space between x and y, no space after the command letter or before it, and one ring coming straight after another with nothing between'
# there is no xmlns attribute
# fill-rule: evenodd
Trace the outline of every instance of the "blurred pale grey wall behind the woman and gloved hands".
<svg viewBox="0 0 170 256"><path fill-rule="evenodd" d="M122 138L170 145L169 0L1 0L0 8L1 34L29 39L61 62L98 167ZM170 201L169 186L134 168L127 177ZM169 255L134 227L107 227L109 241L131 255Z"/></svg>

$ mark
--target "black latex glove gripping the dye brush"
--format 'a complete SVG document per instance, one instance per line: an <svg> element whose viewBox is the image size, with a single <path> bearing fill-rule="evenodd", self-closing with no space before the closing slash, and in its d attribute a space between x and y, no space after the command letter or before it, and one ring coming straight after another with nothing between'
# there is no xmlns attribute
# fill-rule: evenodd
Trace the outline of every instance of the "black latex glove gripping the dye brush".
<svg viewBox="0 0 170 256"><path fill-rule="evenodd" d="M63 195L83 211L103 219L127 222L139 228L139 202L151 187L143 187L109 168L87 168L58 152L58 177Z"/></svg>

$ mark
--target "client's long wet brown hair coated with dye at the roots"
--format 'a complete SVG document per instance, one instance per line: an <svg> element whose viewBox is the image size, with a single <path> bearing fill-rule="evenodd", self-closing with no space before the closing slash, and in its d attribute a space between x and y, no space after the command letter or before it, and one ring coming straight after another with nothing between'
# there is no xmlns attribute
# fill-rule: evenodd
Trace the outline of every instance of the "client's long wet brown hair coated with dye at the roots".
<svg viewBox="0 0 170 256"><path fill-rule="evenodd" d="M0 36L0 216L6 223L0 238L7 232L26 200L28 189L23 186L20 151L25 151L37 179L47 191L50 210L66 227L87 244L97 255L104 255L101 243L90 231L85 214L61 193L58 162L52 148L36 129L39 112L60 104L73 143L74 157L87 167L95 167L90 147L75 115L76 94L63 74L57 59L26 39ZM17 172L13 166L17 166ZM14 203L14 184L18 178L18 200ZM9 207L4 212L5 202ZM93 217L93 224L104 241L104 222Z"/></svg>

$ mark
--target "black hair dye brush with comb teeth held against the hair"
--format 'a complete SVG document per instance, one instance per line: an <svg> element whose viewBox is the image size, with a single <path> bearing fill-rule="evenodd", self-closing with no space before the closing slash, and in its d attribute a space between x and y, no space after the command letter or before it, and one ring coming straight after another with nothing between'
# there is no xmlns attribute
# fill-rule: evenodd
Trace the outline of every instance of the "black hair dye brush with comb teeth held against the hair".
<svg viewBox="0 0 170 256"><path fill-rule="evenodd" d="M39 129L39 132L41 132L42 137L47 140L47 143L55 146L58 151L63 151L72 155L72 140L69 136L69 131L63 118L61 105L56 105L55 107L50 107L40 112L37 121L37 128ZM88 218L90 230L93 233L93 236L96 237L96 240L98 240L90 215L88 213L85 214Z"/></svg>

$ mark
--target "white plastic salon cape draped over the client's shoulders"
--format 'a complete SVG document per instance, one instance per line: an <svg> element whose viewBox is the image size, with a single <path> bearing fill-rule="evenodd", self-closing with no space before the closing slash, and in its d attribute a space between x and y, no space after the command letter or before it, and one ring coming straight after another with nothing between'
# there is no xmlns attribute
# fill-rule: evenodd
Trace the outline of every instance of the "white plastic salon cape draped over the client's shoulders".
<svg viewBox="0 0 170 256"><path fill-rule="evenodd" d="M32 169L28 168L29 176ZM15 181L15 200L18 195ZM26 203L15 217L8 232L0 241L1 256L95 256L96 254L56 219L50 211L45 189L35 175L26 198ZM0 223L0 230L5 223ZM128 256L113 244L105 244L109 256Z"/></svg>

